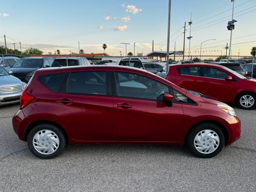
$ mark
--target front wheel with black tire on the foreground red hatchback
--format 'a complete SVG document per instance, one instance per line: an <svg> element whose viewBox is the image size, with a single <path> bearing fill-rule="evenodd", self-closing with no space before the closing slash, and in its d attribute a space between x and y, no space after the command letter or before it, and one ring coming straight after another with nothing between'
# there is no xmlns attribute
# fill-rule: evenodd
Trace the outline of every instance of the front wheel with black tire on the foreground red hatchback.
<svg viewBox="0 0 256 192"><path fill-rule="evenodd" d="M200 133L202 133L201 135L208 133L208 136L201 138L201 143L195 140L197 136L200 138ZM218 140L218 142L216 140ZM196 125L192 130L189 131L187 136L188 149L193 155L201 158L209 158L218 155L222 150L224 143L225 137L223 132L218 126L211 123ZM208 148L208 150L206 149L200 152L200 146Z"/></svg>

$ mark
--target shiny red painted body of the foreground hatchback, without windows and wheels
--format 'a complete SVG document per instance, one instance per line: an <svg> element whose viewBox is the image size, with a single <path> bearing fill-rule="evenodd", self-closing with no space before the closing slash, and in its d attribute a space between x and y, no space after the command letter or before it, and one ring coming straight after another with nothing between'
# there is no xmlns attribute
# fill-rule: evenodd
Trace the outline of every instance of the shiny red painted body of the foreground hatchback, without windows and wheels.
<svg viewBox="0 0 256 192"><path fill-rule="evenodd" d="M166 102L156 100L55 93L37 80L41 75L71 70L113 70L140 74L172 87L194 100L196 105L173 102L172 107L167 107ZM222 124L228 131L228 144L239 139L241 132L240 120L217 107L216 102L220 102L202 99L161 77L135 68L83 66L39 69L29 84L27 93L36 97L36 100L12 118L13 129L21 140L25 140L26 127L41 120L60 125L67 133L70 144L182 145L188 130L203 121ZM72 102L63 104L57 102L58 99L68 99Z"/></svg>

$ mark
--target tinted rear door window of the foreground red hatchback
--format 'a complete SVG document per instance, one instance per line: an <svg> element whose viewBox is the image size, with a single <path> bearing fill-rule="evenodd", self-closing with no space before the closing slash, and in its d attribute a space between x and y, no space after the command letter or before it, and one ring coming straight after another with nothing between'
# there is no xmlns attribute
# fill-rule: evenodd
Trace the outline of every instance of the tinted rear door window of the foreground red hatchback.
<svg viewBox="0 0 256 192"><path fill-rule="evenodd" d="M68 93L106 95L106 72L73 72L68 80Z"/></svg>

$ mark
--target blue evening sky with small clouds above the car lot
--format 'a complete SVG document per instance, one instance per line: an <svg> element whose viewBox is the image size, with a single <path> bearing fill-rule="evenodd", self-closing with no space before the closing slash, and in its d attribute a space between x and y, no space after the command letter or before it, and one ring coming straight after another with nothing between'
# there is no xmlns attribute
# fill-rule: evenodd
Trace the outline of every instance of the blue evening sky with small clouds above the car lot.
<svg viewBox="0 0 256 192"><path fill-rule="evenodd" d="M29 47L43 50L44 53L59 49L66 54L69 51L86 53L103 52L102 44L109 55L118 56L120 51L135 54L152 51L166 51L168 0L96 0L96 1L14 1L4 2L0 8L0 36L6 35L7 46L13 49L14 42L21 42L22 50ZM172 0L171 7L171 43L170 50L183 49L183 30L185 21L191 25L191 55L225 54L225 45L229 44L230 31L227 22L231 20L232 4L229 0ZM235 0L235 30L232 35L232 55L250 55L256 46L256 0ZM186 37L189 26L186 25ZM251 42L254 41L254 42ZM246 43L251 42L251 43ZM4 38L0 38L4 45ZM19 44L16 44L16 48ZM185 52L188 52L189 40L185 40ZM204 51L204 52L203 52ZM217 52L218 51L218 52ZM186 54L186 53L185 53ZM187 53L188 54L188 53Z"/></svg>

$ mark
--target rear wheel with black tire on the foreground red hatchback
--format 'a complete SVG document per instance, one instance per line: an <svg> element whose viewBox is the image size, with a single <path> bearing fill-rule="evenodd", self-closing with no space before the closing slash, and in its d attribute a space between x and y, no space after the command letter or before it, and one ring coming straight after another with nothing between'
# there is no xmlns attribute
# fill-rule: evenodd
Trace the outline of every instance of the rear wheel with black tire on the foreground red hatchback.
<svg viewBox="0 0 256 192"><path fill-rule="evenodd" d="M29 132L27 144L35 156L41 159L52 159L62 153L66 146L66 139L58 127L52 124L39 124ZM39 152L40 148L42 150Z"/></svg>

